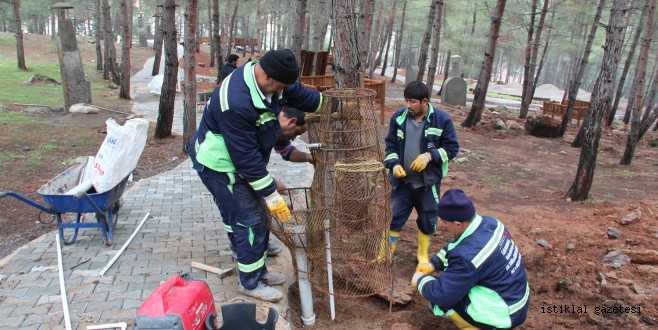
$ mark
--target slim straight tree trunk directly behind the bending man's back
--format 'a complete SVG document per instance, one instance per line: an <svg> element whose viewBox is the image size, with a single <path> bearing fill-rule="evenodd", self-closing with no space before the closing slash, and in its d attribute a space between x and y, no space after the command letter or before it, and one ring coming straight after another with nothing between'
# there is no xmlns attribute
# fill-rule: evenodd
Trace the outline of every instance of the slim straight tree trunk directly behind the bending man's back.
<svg viewBox="0 0 658 330"><path fill-rule="evenodd" d="M197 0L185 6L185 82L183 84L183 152L196 130L196 31Z"/></svg>

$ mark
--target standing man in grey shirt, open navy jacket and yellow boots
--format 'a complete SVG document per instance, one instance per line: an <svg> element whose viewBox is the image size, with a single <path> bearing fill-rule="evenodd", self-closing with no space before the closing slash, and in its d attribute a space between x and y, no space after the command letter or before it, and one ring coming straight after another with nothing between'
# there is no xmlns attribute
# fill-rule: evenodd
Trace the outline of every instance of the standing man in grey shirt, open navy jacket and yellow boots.
<svg viewBox="0 0 658 330"><path fill-rule="evenodd" d="M447 113L429 104L425 84L413 81L404 89L407 106L391 118L386 136L384 166L391 182L391 253L412 209L418 213L418 266L429 274L430 235L436 231L441 179L448 174L448 161L459 152L457 135ZM380 251L379 258L383 258Z"/></svg>

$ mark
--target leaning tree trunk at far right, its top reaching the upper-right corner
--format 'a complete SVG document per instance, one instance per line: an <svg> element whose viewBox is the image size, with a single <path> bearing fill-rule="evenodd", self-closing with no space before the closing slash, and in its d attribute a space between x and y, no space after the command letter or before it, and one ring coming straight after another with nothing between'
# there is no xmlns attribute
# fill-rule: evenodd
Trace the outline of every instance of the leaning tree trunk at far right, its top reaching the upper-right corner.
<svg viewBox="0 0 658 330"><path fill-rule="evenodd" d="M642 120L640 118L642 112L642 98L644 96L644 77L647 72L647 60L649 58L649 47L651 46L651 39L653 38L653 24L654 14L656 12L656 0L647 0L647 29L642 38L642 46L640 46L640 57L637 59L637 66L633 84L635 87L635 95L633 95L633 107L631 111L631 131L628 133L626 140L626 150L622 156L620 165L630 165L635 153L635 146L640 140L640 130ZM628 110L627 110L628 111ZM647 108L647 111L650 111Z"/></svg>

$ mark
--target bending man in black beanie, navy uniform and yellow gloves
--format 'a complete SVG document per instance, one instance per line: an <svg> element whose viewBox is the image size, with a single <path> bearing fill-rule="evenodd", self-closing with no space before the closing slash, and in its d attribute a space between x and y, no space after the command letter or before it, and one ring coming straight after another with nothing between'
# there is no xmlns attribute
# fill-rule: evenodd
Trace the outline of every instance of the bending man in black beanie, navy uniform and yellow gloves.
<svg viewBox="0 0 658 330"><path fill-rule="evenodd" d="M284 284L286 278L265 267L268 213L281 222L290 219L290 210L267 171L282 133L277 118L284 105L304 112L322 106L322 94L303 87L298 77L299 65L287 49L270 51L260 61L235 69L213 91L188 146L194 169L213 195L237 255L238 292L272 302L283 295L270 285Z"/></svg>

